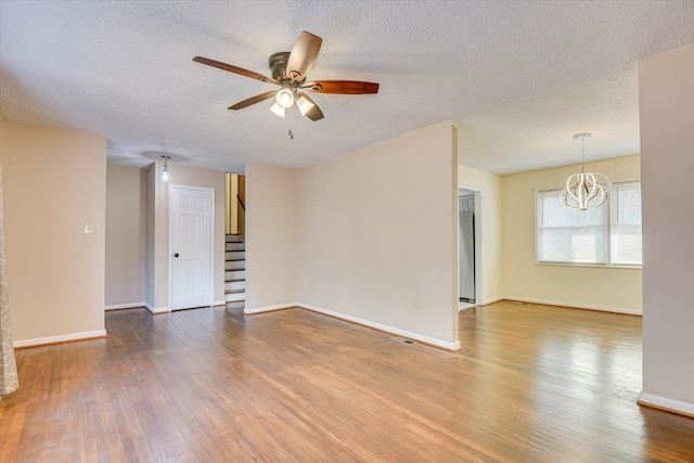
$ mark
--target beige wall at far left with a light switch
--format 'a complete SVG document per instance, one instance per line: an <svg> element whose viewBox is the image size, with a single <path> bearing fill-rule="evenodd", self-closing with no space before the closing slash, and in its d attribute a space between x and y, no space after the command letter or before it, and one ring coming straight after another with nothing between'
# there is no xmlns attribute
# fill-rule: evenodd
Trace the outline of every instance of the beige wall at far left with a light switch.
<svg viewBox="0 0 694 463"><path fill-rule="evenodd" d="M2 132L15 343L104 334L106 138L11 121Z"/></svg>

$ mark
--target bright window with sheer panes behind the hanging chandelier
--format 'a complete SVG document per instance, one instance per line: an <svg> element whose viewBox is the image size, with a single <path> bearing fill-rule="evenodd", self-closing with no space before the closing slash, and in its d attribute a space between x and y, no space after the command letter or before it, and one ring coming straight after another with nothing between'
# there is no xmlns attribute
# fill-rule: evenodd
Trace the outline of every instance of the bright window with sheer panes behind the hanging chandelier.
<svg viewBox="0 0 694 463"><path fill-rule="evenodd" d="M560 191L537 193L538 263L641 267L641 182L614 183L597 209L564 206Z"/></svg>

